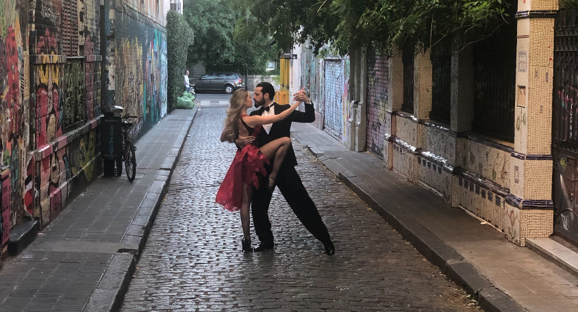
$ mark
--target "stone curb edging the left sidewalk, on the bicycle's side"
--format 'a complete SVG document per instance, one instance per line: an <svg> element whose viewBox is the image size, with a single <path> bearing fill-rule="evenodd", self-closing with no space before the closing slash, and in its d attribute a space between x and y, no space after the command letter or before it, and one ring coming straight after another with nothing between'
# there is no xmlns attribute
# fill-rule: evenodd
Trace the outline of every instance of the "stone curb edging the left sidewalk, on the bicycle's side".
<svg viewBox="0 0 578 312"><path fill-rule="evenodd" d="M149 233L166 195L168 184L171 182L173 171L179 161L192 122L197 116L197 107L193 107L193 110L194 112L181 128L175 144L157 171L155 180L147 190L145 198L127 227L121 244L129 246L129 248L118 250L112 256L95 291L92 292L81 311L116 312L121 310L125 294L136 271L136 263L138 263L140 254L147 244Z"/></svg>

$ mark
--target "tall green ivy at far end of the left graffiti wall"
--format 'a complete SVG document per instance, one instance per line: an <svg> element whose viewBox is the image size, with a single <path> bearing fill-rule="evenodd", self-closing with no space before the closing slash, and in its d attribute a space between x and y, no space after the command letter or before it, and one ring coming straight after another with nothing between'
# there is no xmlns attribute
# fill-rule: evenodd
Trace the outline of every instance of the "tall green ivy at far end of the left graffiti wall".
<svg viewBox="0 0 578 312"><path fill-rule="evenodd" d="M184 90L183 75L187 62L187 50L193 43L194 34L185 18L175 12L166 14L166 54L168 70L168 112L175 109L177 98Z"/></svg>

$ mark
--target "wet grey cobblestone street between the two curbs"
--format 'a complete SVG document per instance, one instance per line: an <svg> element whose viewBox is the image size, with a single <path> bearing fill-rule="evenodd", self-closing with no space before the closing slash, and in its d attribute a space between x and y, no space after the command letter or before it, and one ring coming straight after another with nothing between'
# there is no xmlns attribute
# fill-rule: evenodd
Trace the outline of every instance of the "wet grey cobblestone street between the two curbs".
<svg viewBox="0 0 578 312"><path fill-rule="evenodd" d="M235 153L219 142L225 109L195 118L123 311L479 311L297 141L297 171L335 255L323 253L278 190L275 249L241 252L239 213L214 203Z"/></svg>

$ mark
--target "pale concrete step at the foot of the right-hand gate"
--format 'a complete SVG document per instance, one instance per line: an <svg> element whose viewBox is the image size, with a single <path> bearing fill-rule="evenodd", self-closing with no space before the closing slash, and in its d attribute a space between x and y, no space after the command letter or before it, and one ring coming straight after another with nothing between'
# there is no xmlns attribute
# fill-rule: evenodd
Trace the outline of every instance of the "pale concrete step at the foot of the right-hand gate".
<svg viewBox="0 0 578 312"><path fill-rule="evenodd" d="M578 276L578 253L549 237L527 238L527 246L560 268Z"/></svg>

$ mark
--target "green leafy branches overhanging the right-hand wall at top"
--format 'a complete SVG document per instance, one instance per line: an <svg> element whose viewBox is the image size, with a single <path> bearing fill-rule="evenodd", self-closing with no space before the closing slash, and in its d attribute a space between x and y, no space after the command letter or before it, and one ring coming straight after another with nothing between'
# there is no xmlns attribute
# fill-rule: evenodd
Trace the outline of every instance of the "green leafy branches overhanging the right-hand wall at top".
<svg viewBox="0 0 578 312"><path fill-rule="evenodd" d="M464 46L508 23L514 7L514 0L255 0L252 12L281 49L310 38L316 51L330 43L345 54L370 42L385 51L442 38Z"/></svg>

